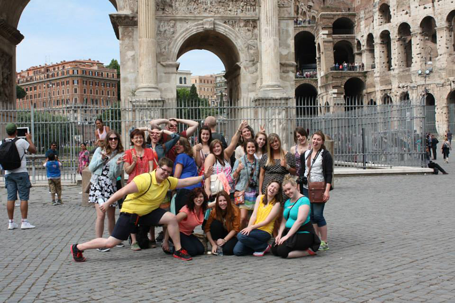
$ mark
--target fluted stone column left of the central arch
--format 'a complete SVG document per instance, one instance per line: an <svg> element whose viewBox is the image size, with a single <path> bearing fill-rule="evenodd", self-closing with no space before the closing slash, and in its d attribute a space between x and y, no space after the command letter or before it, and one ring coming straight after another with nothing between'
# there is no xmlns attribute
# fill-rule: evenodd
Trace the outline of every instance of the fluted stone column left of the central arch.
<svg viewBox="0 0 455 303"><path fill-rule="evenodd" d="M156 18L155 0L139 0L139 86L136 96L159 99L156 72Z"/></svg>

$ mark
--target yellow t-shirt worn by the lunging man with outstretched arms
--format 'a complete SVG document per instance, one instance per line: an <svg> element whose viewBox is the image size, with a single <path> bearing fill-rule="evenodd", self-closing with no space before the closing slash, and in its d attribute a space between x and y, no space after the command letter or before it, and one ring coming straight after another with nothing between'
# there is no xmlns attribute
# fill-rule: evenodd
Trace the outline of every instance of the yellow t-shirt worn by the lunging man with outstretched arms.
<svg viewBox="0 0 455 303"><path fill-rule="evenodd" d="M150 184L150 175L152 175L152 184ZM156 181L156 170L154 170L151 173L135 176L132 182L136 184L139 191L126 196L121 212L144 216L160 207L161 201L166 196L167 191L177 187L178 179L168 177L167 180L163 180L163 182L158 184ZM144 193L149 188L149 185L150 189L143 196L136 199L135 197ZM127 201L128 199L131 200Z"/></svg>

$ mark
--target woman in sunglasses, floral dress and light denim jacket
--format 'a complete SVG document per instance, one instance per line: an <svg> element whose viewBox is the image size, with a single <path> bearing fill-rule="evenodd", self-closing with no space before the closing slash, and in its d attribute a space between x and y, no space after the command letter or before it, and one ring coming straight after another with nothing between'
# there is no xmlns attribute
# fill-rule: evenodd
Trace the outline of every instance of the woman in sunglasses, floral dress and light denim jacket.
<svg viewBox="0 0 455 303"><path fill-rule="evenodd" d="M115 207L117 203L111 204L106 213L100 210L100 205L104 204L114 192L117 191L117 177L120 176L123 168L123 145L117 131L111 130L106 134L103 147L95 150L92 161L88 169L92 172L90 179L90 191L88 202L95 204L97 220L95 223L95 234L97 238L103 236L104 219L108 217L108 231L112 234L115 225ZM99 247L99 251L108 251L109 248Z"/></svg>

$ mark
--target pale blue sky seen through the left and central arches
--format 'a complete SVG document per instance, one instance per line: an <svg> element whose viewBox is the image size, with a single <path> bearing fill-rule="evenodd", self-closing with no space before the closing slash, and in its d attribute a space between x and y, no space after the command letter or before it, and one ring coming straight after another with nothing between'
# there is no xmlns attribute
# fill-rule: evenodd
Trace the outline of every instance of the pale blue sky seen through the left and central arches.
<svg viewBox="0 0 455 303"><path fill-rule="evenodd" d="M17 46L18 71L74 59L120 61L118 40L109 20L115 8L108 0L31 0L18 29L25 36ZM224 66L208 51L191 51L178 59L180 70L193 75L219 73Z"/></svg>

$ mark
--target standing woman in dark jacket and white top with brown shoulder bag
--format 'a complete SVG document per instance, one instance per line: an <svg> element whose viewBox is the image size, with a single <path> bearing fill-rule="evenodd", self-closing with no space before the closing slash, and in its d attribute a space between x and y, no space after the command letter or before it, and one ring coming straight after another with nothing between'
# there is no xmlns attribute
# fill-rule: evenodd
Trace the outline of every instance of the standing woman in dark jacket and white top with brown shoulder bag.
<svg viewBox="0 0 455 303"><path fill-rule="evenodd" d="M326 189L324 191L324 202L323 203L310 203L310 219L313 224L313 228L316 235L321 238L321 246L319 250L328 250L329 243L327 240L327 222L324 218L324 207L325 203L330 198L330 190L333 189L332 178L333 178L333 159L327 150L324 142L326 136L321 130L313 133L311 136L311 149L307 150L300 157L301 179L306 179L300 184L300 192L308 197L308 183L307 182L325 182ZM308 178L308 170L311 168L310 177ZM310 201L311 201L311 197Z"/></svg>

